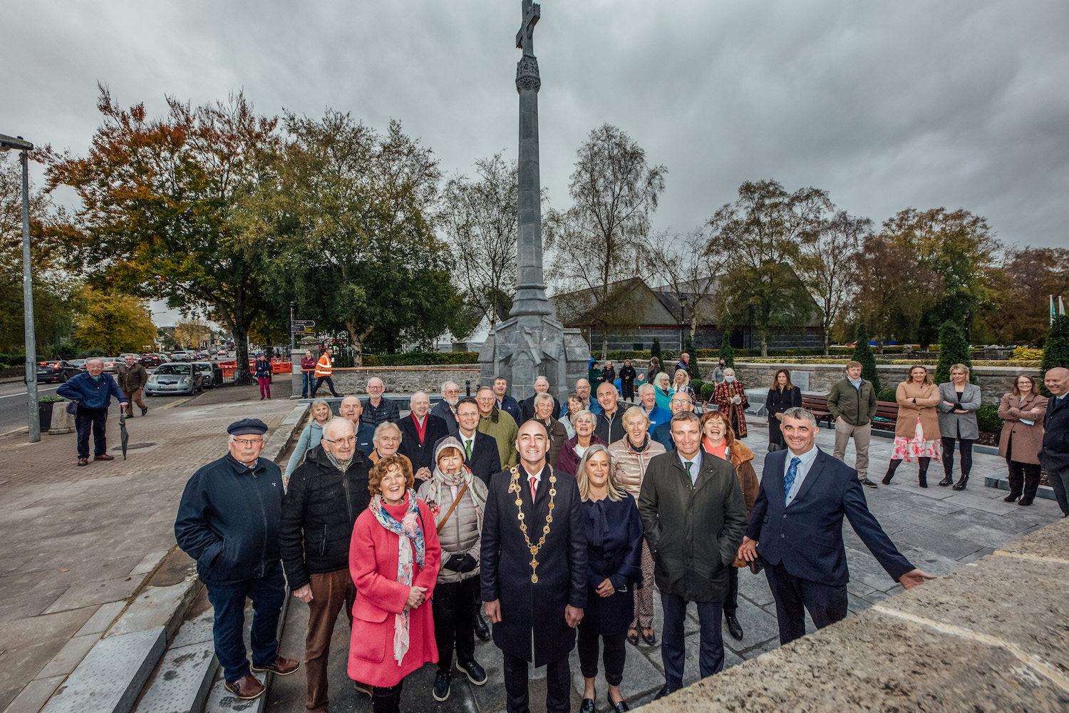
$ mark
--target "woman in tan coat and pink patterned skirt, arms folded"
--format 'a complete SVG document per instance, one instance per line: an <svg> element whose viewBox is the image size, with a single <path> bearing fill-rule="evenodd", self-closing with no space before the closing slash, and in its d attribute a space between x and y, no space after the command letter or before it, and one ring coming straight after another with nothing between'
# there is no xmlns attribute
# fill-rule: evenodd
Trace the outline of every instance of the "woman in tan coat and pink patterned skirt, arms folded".
<svg viewBox="0 0 1069 713"><path fill-rule="evenodd" d="M889 485L902 461L917 461L917 483L928 487L928 464L943 458L943 441L939 430L939 389L928 370L917 365L910 369L910 378L898 385L898 420L895 422L895 452L890 456L883 484Z"/></svg>

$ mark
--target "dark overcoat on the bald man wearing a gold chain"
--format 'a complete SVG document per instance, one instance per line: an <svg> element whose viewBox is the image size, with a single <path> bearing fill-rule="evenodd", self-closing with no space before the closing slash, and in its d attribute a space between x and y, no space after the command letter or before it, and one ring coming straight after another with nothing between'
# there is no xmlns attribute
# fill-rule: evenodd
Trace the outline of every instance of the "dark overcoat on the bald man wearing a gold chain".
<svg viewBox="0 0 1069 713"><path fill-rule="evenodd" d="M482 520L482 601L497 600L501 605L501 621L494 624L497 648L531 661L533 632L534 665L543 666L567 656L575 647L575 630L564 621L564 606L587 606L586 525L575 478L546 465L532 503L526 472L522 465L516 467L518 508L515 493L509 492L510 471L495 474L490 481ZM532 583L531 553L517 515L523 512L527 537L537 545L549 513L551 474L557 478L553 522L538 553L538 582Z"/></svg>

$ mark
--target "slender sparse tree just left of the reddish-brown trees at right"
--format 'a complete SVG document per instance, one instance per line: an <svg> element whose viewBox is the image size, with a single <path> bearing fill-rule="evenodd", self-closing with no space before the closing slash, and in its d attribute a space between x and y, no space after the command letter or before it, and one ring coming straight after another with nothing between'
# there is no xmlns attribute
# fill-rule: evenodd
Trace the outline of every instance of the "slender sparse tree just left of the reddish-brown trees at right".
<svg viewBox="0 0 1069 713"><path fill-rule="evenodd" d="M817 301L824 331L824 355L832 344L832 326L857 286L857 251L872 221L838 211L824 220L815 239L802 244L799 269Z"/></svg>

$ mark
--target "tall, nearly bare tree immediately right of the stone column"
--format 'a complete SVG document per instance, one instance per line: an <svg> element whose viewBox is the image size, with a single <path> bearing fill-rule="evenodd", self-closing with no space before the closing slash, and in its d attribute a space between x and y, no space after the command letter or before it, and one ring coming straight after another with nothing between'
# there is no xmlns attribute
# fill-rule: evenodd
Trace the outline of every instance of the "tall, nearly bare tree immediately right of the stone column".
<svg viewBox="0 0 1069 713"><path fill-rule="evenodd" d="M635 275L667 172L650 166L642 148L620 128L602 124L576 152L572 207L546 217L549 276L566 291L582 292L576 311L585 326L601 330L602 358L610 329L637 324L636 295L623 278Z"/></svg>

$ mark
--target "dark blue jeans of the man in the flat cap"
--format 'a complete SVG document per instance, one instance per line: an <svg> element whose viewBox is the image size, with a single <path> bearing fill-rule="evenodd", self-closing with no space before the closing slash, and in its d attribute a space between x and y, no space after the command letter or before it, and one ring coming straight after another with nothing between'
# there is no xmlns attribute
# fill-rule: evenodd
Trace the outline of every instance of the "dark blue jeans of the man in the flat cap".
<svg viewBox="0 0 1069 713"><path fill-rule="evenodd" d="M246 598L252 600L252 663L258 668L269 666L278 656L278 619L285 600L281 564L255 579L207 585L207 600L215 607L215 655L227 683L249 675L244 637Z"/></svg>

